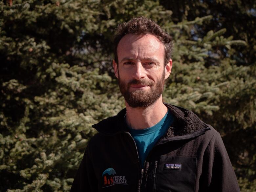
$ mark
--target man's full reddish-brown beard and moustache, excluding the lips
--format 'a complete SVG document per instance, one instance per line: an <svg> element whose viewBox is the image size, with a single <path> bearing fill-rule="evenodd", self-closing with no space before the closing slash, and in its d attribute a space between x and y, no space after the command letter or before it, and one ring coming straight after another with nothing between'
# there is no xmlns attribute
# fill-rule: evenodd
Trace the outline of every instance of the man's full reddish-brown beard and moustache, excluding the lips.
<svg viewBox="0 0 256 192"><path fill-rule="evenodd" d="M149 107L154 104L163 93L165 83L164 72L165 71L163 71L162 76L160 77L160 79L157 80L156 83L154 83L154 81L150 79L133 79L126 84L124 81L121 80L119 75L119 89L128 105L132 108L137 108ZM139 89L131 92L129 91L131 85L148 85L150 86L150 90Z"/></svg>

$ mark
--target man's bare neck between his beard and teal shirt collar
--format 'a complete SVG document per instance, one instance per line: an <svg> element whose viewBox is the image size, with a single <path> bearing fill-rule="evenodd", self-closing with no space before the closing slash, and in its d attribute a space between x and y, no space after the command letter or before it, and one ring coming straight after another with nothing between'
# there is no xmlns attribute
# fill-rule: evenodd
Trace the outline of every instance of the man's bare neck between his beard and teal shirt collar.
<svg viewBox="0 0 256 192"><path fill-rule="evenodd" d="M132 129L146 129L157 124L168 109L162 102L162 96L149 107L132 108L125 102L126 122Z"/></svg>

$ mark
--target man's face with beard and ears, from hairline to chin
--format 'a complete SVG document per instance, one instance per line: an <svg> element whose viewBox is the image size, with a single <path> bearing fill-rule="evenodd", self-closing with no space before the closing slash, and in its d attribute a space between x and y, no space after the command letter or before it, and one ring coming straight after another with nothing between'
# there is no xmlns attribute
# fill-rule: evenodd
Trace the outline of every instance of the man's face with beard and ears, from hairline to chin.
<svg viewBox="0 0 256 192"><path fill-rule="evenodd" d="M127 34L117 47L118 66L113 62L119 88L130 107L148 107L163 92L171 71L164 67L164 46L151 34Z"/></svg>

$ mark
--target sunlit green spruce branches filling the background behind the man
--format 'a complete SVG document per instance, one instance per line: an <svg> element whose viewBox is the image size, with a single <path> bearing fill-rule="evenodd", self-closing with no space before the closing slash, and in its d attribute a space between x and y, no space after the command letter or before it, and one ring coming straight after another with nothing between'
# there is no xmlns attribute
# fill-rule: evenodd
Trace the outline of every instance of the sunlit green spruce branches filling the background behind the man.
<svg viewBox="0 0 256 192"><path fill-rule="evenodd" d="M138 15L174 38L164 101L213 125L241 191L256 190L255 4L8 2L0 1L0 191L70 190L96 133L91 125L124 107L112 70L113 33Z"/></svg>

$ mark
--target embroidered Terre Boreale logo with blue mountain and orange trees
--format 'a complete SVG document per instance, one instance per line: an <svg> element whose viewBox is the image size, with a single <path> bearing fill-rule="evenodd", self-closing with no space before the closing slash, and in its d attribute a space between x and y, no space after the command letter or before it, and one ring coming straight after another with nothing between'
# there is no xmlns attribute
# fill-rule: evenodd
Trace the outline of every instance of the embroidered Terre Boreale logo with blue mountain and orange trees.
<svg viewBox="0 0 256 192"><path fill-rule="evenodd" d="M109 187L116 184L128 185L125 176L117 176L116 171L110 167L102 173L104 187Z"/></svg>

